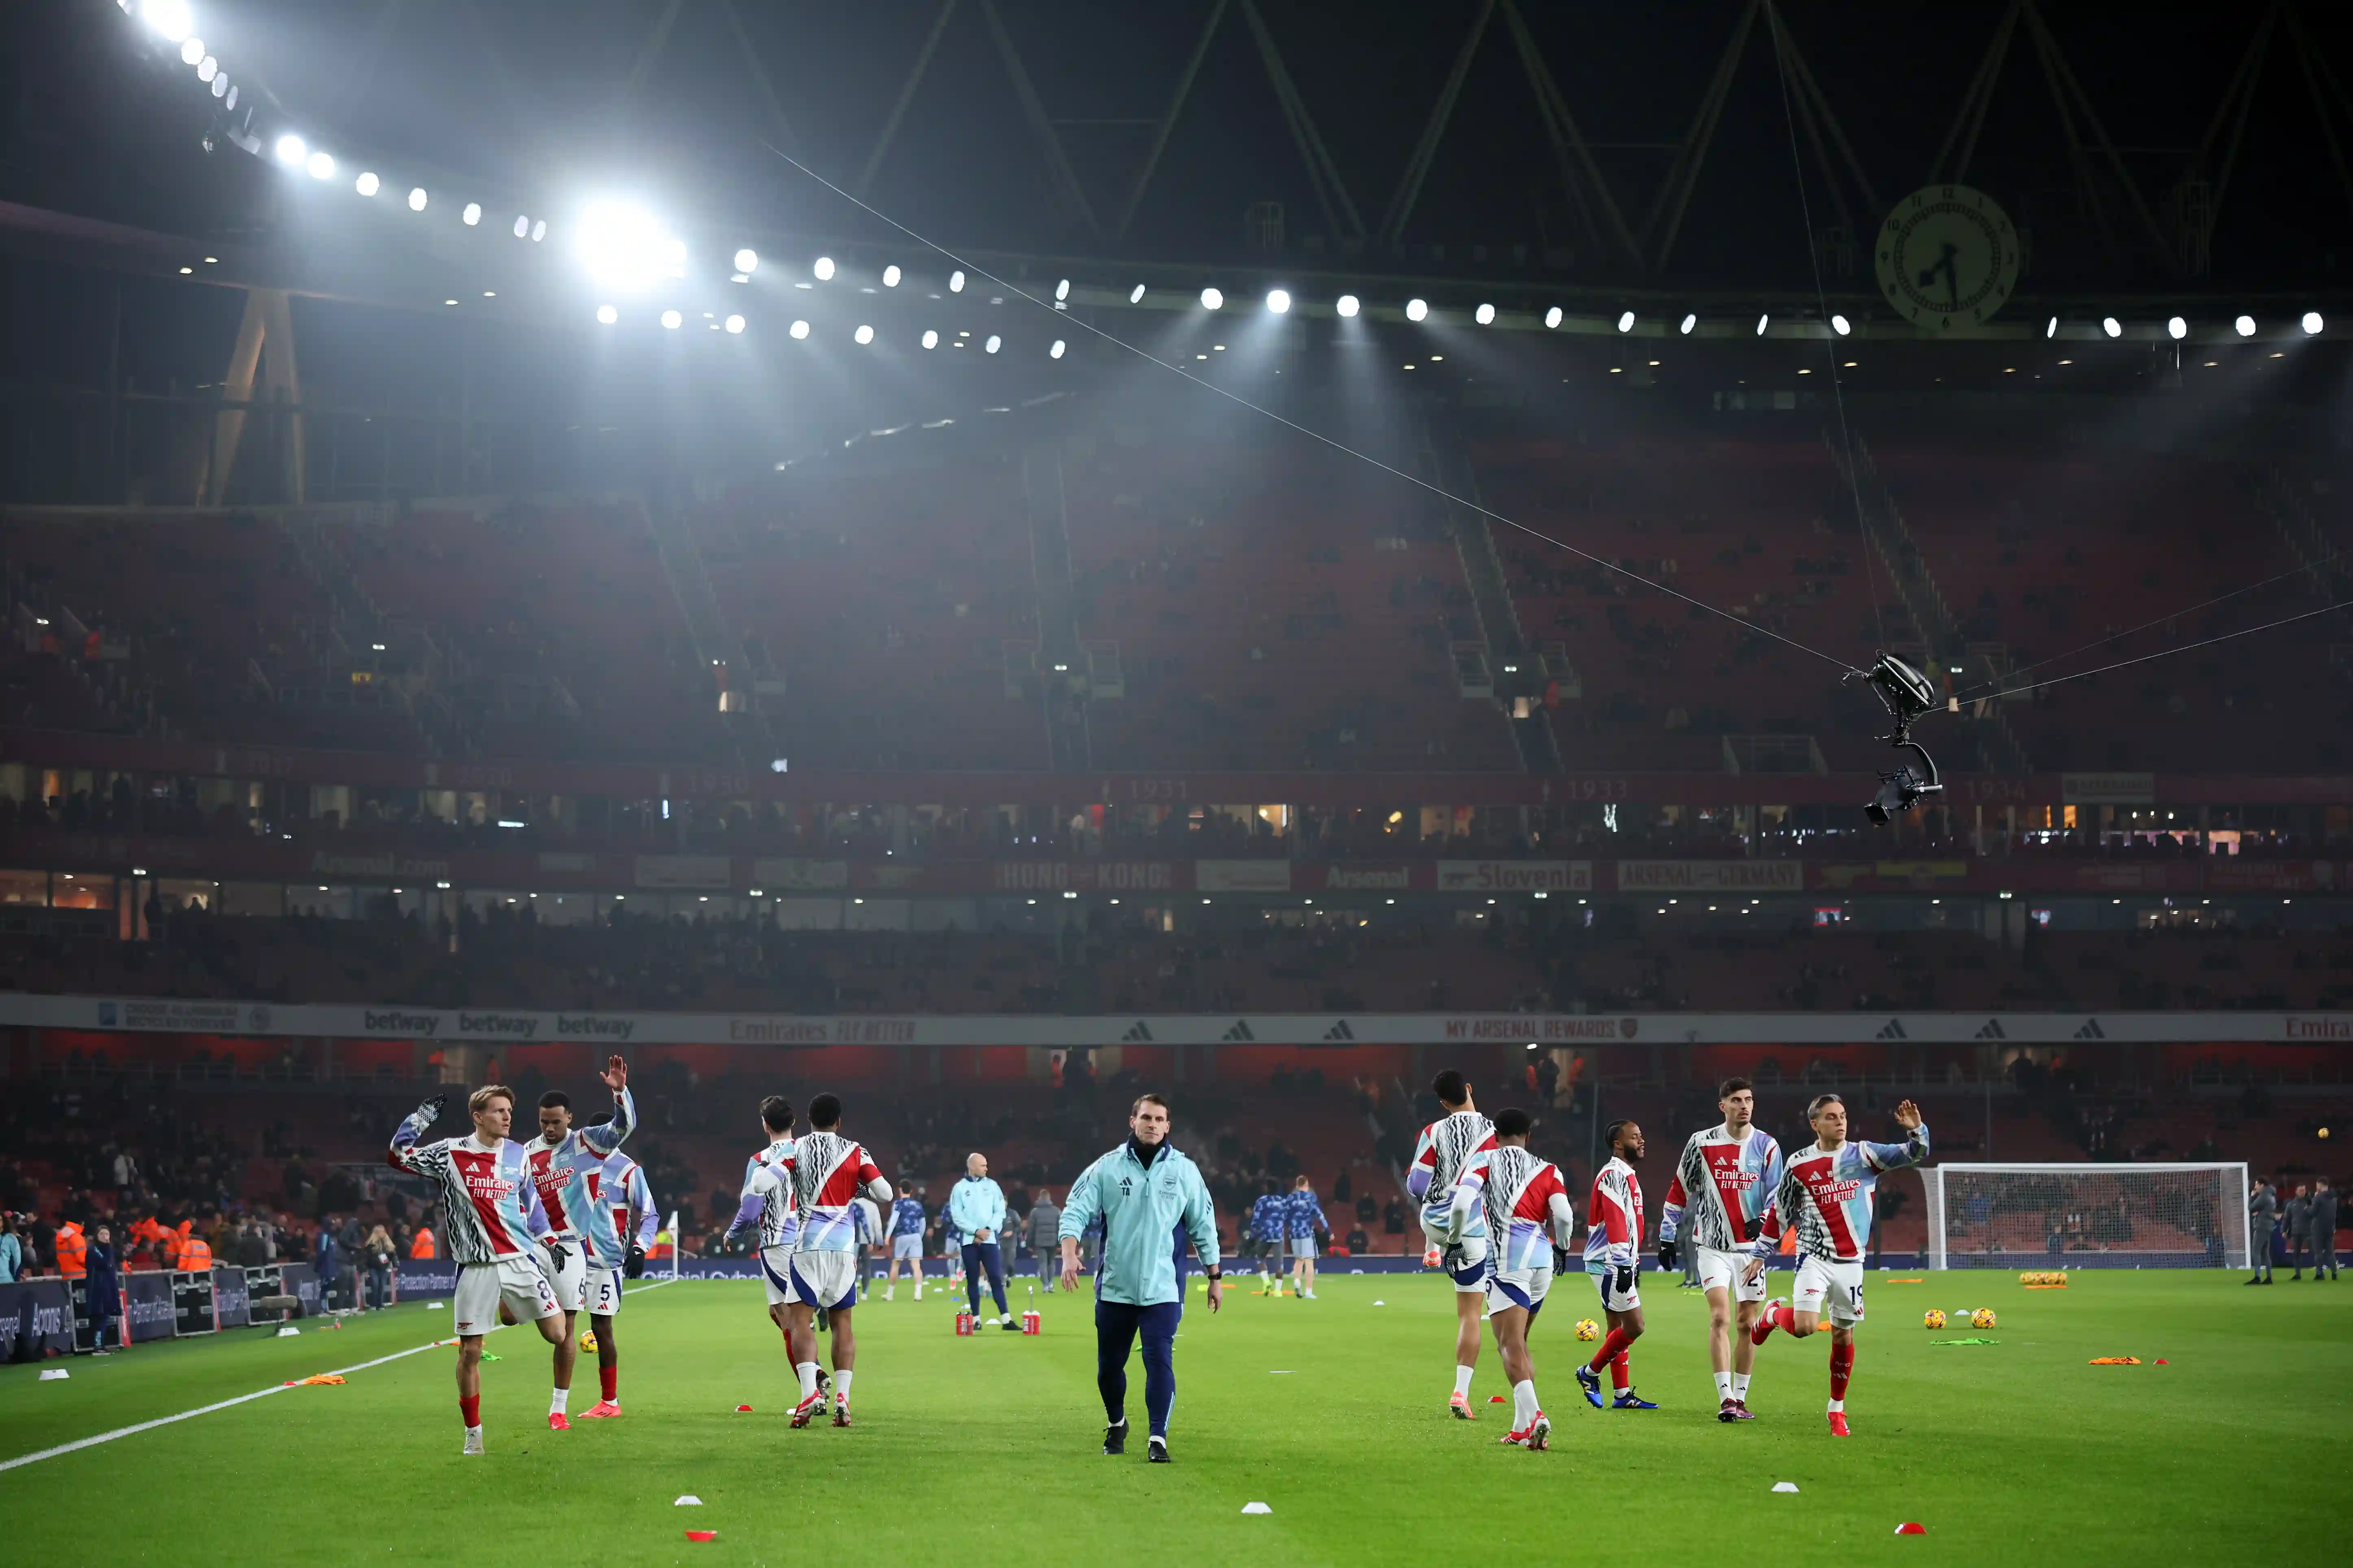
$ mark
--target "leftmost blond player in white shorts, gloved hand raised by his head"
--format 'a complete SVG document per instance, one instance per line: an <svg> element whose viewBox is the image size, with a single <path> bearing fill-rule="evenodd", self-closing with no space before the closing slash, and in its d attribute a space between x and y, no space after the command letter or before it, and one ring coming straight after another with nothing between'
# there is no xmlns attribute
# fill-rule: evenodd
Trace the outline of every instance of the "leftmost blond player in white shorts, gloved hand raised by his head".
<svg viewBox="0 0 2353 1568"><path fill-rule="evenodd" d="M515 1321L539 1324L539 1338L555 1347L558 1387L572 1385L572 1345L555 1286L532 1255L534 1244L548 1237L548 1213L539 1206L529 1154L506 1135L515 1124L515 1091L506 1084L475 1088L466 1098L473 1133L416 1143L445 1103L445 1095L433 1095L409 1112L384 1159L393 1171L424 1175L442 1190L445 1241L456 1262L456 1408L466 1422L466 1453L482 1453L482 1335L496 1328L499 1307L506 1305ZM562 1267L562 1244L548 1246L548 1260Z"/></svg>

